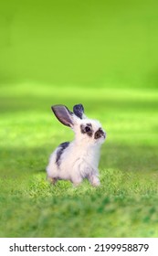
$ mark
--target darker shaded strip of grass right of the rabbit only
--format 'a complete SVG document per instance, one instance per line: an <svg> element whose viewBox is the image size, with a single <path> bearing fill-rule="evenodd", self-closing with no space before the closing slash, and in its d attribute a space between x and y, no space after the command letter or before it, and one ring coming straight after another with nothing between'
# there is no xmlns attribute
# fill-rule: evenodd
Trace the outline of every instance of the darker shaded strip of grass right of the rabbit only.
<svg viewBox="0 0 158 256"><path fill-rule="evenodd" d="M100 165L122 171L158 171L158 146L107 144Z"/></svg>

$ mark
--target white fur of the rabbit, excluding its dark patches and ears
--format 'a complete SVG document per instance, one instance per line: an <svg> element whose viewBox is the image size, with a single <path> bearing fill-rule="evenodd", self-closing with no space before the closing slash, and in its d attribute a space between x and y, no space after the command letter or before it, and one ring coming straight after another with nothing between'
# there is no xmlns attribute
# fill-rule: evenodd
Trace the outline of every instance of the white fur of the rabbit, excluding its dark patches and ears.
<svg viewBox="0 0 158 256"><path fill-rule="evenodd" d="M84 116L79 119L73 115L73 127L75 139L68 144L60 157L60 165L57 165L58 148L50 155L47 165L47 178L57 181L58 179L70 180L74 186L78 186L84 178L88 178L92 186L99 186L99 160L100 145L104 142L104 137L98 140L87 133L80 132L80 124L91 123L95 133L101 127L98 121L90 120Z"/></svg>

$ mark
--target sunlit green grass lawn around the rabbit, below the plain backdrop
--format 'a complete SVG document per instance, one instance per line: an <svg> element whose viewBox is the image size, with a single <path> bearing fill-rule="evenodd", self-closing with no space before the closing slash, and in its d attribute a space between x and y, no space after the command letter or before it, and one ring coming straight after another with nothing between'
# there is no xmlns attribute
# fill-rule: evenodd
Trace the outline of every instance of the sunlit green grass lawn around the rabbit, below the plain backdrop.
<svg viewBox="0 0 158 256"><path fill-rule="evenodd" d="M52 187L48 157L73 133L50 106L80 101L108 134L101 186L85 180L77 188L68 181ZM148 88L2 85L0 237L158 237L157 102L157 90Z"/></svg>

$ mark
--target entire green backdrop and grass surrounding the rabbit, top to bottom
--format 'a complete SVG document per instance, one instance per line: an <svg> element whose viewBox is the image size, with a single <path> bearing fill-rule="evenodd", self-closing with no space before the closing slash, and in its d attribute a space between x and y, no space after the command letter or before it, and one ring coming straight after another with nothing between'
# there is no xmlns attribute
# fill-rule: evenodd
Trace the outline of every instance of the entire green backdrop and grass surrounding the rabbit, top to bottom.
<svg viewBox="0 0 158 256"><path fill-rule="evenodd" d="M0 1L0 237L158 236L158 2ZM46 182L82 102L108 136L98 188Z"/></svg>

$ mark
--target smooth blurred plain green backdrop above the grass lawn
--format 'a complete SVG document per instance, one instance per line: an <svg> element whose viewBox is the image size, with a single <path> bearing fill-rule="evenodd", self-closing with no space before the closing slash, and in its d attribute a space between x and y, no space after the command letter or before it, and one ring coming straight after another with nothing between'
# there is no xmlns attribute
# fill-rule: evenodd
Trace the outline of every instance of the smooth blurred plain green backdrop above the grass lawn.
<svg viewBox="0 0 158 256"><path fill-rule="evenodd" d="M0 80L157 87L157 1L0 1Z"/></svg>

